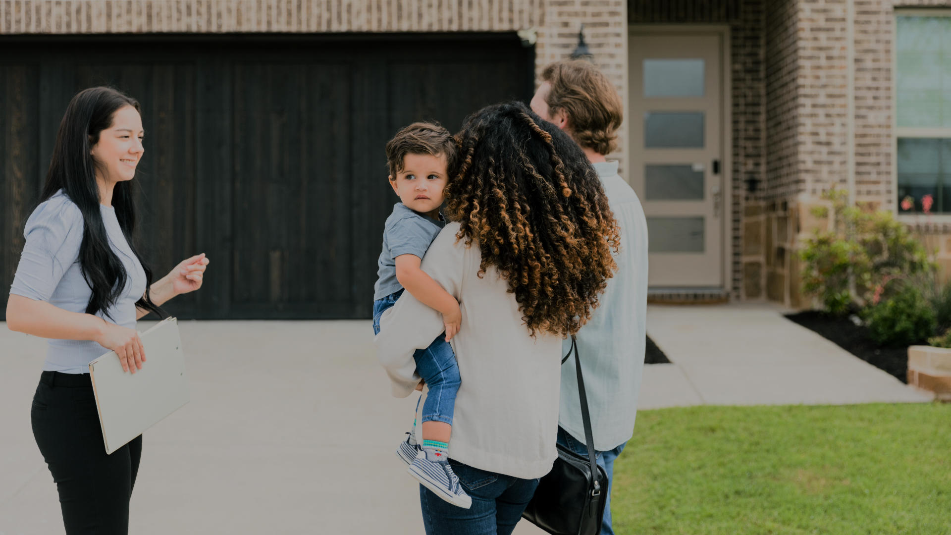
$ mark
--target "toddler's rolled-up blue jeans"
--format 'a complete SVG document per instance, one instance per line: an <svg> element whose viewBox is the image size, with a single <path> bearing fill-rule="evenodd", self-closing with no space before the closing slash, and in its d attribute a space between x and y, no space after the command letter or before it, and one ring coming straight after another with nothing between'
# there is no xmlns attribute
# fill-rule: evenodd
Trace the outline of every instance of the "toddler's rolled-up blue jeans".
<svg viewBox="0 0 951 535"><path fill-rule="evenodd" d="M379 334L379 317L383 311L396 305L403 290L391 293L373 302L373 330ZM422 422L453 424L456 409L456 392L459 391L459 367L453 347L445 340L445 333L436 337L429 347L413 353L417 373L429 386L426 403L422 405Z"/></svg>

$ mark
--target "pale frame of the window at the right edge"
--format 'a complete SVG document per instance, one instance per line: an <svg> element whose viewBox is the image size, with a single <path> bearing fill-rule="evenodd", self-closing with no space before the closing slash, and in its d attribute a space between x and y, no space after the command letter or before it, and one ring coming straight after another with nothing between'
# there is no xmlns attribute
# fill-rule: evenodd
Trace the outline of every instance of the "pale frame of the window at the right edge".
<svg viewBox="0 0 951 535"><path fill-rule="evenodd" d="M923 214L922 212L902 211L902 199L898 198L898 140L899 138L943 138L951 139L951 127L899 127L898 126L898 17L947 17L951 18L951 7L939 9L895 8L892 14L894 34L891 40L891 90L892 90L892 195L895 200L895 216L902 223L921 224L927 218L931 224L951 224L951 211Z"/></svg>

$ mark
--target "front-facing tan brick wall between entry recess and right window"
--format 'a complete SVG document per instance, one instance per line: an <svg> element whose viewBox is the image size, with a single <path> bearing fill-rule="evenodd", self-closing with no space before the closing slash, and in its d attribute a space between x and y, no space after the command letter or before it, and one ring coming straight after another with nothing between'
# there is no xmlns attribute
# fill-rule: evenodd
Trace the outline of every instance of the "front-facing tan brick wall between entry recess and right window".
<svg viewBox="0 0 951 535"><path fill-rule="evenodd" d="M874 207L895 208L892 149L892 41L894 7L951 7L951 0L798 0L800 66L799 177L773 192L794 199L818 198L848 182L850 141L855 198ZM853 116L848 113L848 50L854 54ZM854 139L848 139L853 122ZM785 177L784 177L785 178Z"/></svg>

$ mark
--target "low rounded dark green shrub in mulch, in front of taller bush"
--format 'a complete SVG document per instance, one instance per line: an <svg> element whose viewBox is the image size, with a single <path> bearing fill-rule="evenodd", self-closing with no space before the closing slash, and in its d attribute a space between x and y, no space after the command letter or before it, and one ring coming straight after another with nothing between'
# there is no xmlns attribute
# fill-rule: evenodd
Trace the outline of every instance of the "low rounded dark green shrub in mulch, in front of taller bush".
<svg viewBox="0 0 951 535"><path fill-rule="evenodd" d="M920 344L935 334L935 312L921 289L912 284L897 286L895 295L867 310L869 334L881 346Z"/></svg>

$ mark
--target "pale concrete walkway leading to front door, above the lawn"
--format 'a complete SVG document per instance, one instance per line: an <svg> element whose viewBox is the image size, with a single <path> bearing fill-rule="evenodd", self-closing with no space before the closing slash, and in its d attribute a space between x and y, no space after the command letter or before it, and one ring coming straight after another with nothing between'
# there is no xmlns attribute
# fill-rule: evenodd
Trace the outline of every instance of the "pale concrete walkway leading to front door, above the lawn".
<svg viewBox="0 0 951 535"><path fill-rule="evenodd" d="M771 305L648 307L671 364L644 370L638 407L922 403L905 386Z"/></svg>

